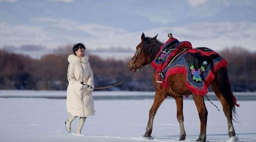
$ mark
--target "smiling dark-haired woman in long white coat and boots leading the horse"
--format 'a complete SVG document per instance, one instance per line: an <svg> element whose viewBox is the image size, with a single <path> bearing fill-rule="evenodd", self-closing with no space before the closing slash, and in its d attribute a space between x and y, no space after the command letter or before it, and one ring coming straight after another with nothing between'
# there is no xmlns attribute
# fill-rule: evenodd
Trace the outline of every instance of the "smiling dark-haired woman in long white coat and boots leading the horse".
<svg viewBox="0 0 256 142"><path fill-rule="evenodd" d="M85 54L84 44L78 43L73 47L73 53L68 56L68 89L67 111L70 116L65 121L66 130L71 132L71 123L80 117L74 134L81 134L86 117L93 116L94 101L92 90L94 89L93 73Z"/></svg>

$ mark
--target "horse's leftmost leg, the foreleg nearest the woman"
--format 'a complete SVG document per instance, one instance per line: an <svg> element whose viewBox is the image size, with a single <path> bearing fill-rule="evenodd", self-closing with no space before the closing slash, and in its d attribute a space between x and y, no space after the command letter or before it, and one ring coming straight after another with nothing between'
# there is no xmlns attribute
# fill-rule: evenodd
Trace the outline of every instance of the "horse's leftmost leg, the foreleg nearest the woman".
<svg viewBox="0 0 256 142"><path fill-rule="evenodd" d="M156 111L166 97L167 97L167 95L165 93L162 94L159 91L156 91L156 94L154 97L154 103L149 111L148 125L146 128L146 133L144 134L144 137L147 137L147 138L151 137L153 121L154 121L154 117L156 115Z"/></svg>

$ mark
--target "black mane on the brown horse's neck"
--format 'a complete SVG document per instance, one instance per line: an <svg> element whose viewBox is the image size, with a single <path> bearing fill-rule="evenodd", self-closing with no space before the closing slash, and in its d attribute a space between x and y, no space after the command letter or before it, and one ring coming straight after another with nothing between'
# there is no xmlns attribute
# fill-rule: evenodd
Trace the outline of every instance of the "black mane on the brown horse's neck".
<svg viewBox="0 0 256 142"><path fill-rule="evenodd" d="M142 51L146 56L149 57L150 62L152 62L155 59L156 54L159 52L160 47L163 44L164 43L161 43L155 38L146 37L144 39L144 41L142 42Z"/></svg>

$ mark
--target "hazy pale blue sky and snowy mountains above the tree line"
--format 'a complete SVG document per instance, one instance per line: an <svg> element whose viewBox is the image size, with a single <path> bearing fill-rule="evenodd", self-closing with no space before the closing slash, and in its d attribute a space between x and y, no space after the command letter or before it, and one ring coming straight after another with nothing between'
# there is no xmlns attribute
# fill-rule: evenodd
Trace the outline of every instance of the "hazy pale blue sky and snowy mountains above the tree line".
<svg viewBox="0 0 256 142"><path fill-rule="evenodd" d="M0 47L135 49L142 32L193 47L256 51L256 0L0 0Z"/></svg>

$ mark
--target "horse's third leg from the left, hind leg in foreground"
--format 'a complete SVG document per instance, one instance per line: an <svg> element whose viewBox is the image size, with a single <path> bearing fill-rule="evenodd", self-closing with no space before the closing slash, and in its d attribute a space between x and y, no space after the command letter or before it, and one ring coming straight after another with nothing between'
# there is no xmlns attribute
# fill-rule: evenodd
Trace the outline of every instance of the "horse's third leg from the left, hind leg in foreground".
<svg viewBox="0 0 256 142"><path fill-rule="evenodd" d="M194 95L194 102L196 104L196 109L198 111L200 119L200 134L196 141L205 142L206 141L206 124L207 124L207 115L208 111L204 104L204 96Z"/></svg>

